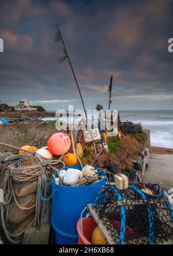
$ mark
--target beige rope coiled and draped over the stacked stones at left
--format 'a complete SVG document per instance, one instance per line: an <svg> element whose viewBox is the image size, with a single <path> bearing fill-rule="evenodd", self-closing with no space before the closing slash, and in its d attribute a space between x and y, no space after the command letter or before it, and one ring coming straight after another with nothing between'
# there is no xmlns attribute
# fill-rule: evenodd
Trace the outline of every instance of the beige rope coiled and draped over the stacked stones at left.
<svg viewBox="0 0 173 256"><path fill-rule="evenodd" d="M14 157L18 157L18 155L7 157L6 160L13 159ZM57 165L61 164L61 168L65 167L64 162L62 162L62 158L63 155L59 159L45 159L36 155L34 156L34 163L31 166L21 166L21 159L17 160L16 162L12 162L12 164L7 166L5 178L2 184L3 194L5 196L3 198L3 203L1 203L1 225L6 238L10 243L22 243L22 240L14 240L14 238L17 238L25 232L24 230L18 233L12 233L7 229L10 202L12 202L12 199L14 199L17 207L21 210L31 210L35 207L35 217L27 227L31 227L31 225L34 227L36 225L39 226L40 211L42 210L43 205L43 202L40 201L39 198L40 190L43 185L50 180L52 173L55 171L57 172ZM22 207L20 203L18 203L14 193L13 180L17 181L18 183L37 180L36 202L34 205L30 207Z"/></svg>

